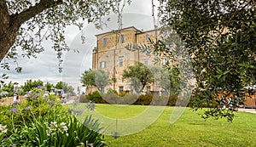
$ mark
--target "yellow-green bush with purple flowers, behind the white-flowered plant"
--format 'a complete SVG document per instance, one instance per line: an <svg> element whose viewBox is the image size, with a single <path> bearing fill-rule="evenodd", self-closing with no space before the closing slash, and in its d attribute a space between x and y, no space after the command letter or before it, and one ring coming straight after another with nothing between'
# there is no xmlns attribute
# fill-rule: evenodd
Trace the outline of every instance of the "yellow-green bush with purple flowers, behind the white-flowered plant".
<svg viewBox="0 0 256 147"><path fill-rule="evenodd" d="M20 103L15 101L12 105L0 106L0 123L9 128L7 135L15 133L15 129L20 129L24 122L30 121L33 116L52 117L50 114L65 116L66 106L54 100L41 98L40 93L30 94Z"/></svg>

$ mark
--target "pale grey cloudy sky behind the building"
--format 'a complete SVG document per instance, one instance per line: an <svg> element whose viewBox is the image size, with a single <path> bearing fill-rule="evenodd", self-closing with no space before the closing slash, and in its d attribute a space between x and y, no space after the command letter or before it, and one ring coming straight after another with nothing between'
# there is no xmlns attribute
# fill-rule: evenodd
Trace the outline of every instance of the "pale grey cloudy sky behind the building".
<svg viewBox="0 0 256 147"><path fill-rule="evenodd" d="M96 30L93 24L84 25L83 31L79 31L77 27L67 27L67 44L70 48L77 48L78 53L73 51L63 55L63 72L58 71L58 59L53 50L48 49L50 42L44 42L45 51L38 54L37 59L18 59L19 65L22 67L22 72L15 72L15 65L12 70L6 71L0 69L0 73L7 73L9 81L23 84L28 79L42 80L43 82L67 82L77 89L81 87L79 76L91 68L91 53L96 47L96 34L106 31L116 30L118 28L117 16L110 15L111 21L108 27L103 30ZM154 29L151 0L132 0L131 5L126 5L123 12L123 28L135 26L137 29L148 31ZM86 41L82 44L80 37L84 33ZM2 75L2 74L1 74ZM83 89L83 88L82 88ZM83 89L84 90L84 89Z"/></svg>

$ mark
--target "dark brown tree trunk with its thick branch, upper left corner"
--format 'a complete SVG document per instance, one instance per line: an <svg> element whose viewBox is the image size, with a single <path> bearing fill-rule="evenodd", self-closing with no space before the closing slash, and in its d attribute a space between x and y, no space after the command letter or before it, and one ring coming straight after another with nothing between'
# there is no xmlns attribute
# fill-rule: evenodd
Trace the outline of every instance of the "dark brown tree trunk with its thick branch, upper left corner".
<svg viewBox="0 0 256 147"><path fill-rule="evenodd" d="M20 25L40 14L45 9L53 8L61 3L62 0L41 0L34 6L20 12L20 14L9 14L6 0L0 0L0 61L15 44Z"/></svg>

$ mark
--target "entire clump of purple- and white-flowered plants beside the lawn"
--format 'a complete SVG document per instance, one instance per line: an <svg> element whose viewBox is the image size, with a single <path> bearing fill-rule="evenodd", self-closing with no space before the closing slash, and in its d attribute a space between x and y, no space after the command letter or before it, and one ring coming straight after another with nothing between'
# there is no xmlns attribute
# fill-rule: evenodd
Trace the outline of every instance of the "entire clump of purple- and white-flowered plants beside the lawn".
<svg viewBox="0 0 256 147"><path fill-rule="evenodd" d="M13 105L0 106L0 144L3 146L106 146L99 123L91 117L79 122L67 105L43 98L35 90ZM93 128L92 131L88 127Z"/></svg>

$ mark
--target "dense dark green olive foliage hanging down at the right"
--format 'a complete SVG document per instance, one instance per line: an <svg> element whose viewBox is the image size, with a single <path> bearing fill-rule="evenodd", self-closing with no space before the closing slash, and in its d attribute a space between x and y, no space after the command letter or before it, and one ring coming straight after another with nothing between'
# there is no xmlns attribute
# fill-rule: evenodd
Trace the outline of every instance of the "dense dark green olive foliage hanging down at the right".
<svg viewBox="0 0 256 147"><path fill-rule="evenodd" d="M256 84L253 1L160 0L159 11L162 25L177 33L192 57L195 110L207 105L205 118L232 121L244 87Z"/></svg>

